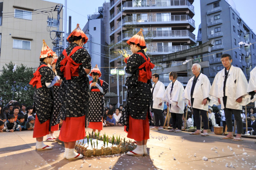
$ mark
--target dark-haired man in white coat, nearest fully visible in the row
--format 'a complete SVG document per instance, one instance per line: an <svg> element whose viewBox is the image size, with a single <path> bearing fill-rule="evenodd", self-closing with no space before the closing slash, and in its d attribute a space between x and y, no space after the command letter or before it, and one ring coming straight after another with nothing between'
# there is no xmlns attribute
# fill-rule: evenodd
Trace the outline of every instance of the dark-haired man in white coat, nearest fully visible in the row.
<svg viewBox="0 0 256 170"><path fill-rule="evenodd" d="M212 88L210 89L210 105L221 104L221 109L224 109L225 112L229 134L220 139L241 141L243 121L240 114L242 112L242 106L245 106L250 100L247 94L247 79L240 68L231 65L231 55L223 54L221 56L221 62L225 68L220 70L213 80ZM232 113L234 114L237 124L236 138L233 137L232 133Z"/></svg>

